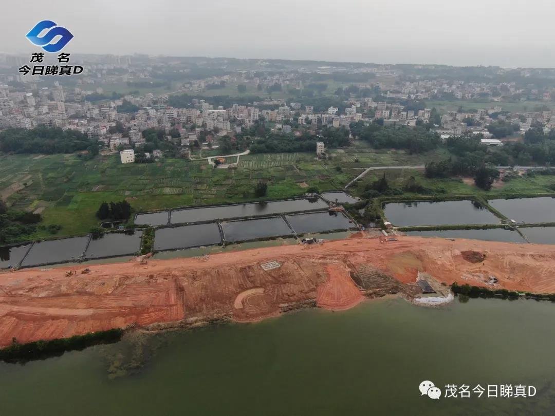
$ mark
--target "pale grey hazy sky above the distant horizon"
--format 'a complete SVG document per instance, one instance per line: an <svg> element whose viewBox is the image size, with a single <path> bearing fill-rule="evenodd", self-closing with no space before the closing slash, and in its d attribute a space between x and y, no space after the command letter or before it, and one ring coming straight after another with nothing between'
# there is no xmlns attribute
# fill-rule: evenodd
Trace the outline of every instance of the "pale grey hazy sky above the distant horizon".
<svg viewBox="0 0 555 416"><path fill-rule="evenodd" d="M48 19L64 50L555 67L553 0L4 0L0 51Z"/></svg>

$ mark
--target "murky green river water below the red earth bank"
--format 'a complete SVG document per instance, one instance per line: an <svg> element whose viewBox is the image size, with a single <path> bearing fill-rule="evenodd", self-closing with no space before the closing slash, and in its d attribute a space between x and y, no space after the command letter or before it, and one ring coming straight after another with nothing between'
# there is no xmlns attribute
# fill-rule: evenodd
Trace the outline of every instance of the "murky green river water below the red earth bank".
<svg viewBox="0 0 555 416"><path fill-rule="evenodd" d="M554 319L549 302L425 308L390 298L165 332L0 363L0 408L46 416L553 414ZM423 380L441 388L439 400L420 395ZM533 385L537 394L445 398L446 384Z"/></svg>

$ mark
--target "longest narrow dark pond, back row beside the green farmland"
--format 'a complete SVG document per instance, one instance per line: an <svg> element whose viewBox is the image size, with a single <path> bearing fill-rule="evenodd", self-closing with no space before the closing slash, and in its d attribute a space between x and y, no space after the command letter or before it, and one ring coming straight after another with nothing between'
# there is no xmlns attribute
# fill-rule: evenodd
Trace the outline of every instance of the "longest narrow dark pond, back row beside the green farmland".
<svg viewBox="0 0 555 416"><path fill-rule="evenodd" d="M234 219L256 215L283 214L284 212L310 211L327 208L320 198L304 198L290 201L256 202L253 204L211 206L171 211L171 223L199 222Z"/></svg>

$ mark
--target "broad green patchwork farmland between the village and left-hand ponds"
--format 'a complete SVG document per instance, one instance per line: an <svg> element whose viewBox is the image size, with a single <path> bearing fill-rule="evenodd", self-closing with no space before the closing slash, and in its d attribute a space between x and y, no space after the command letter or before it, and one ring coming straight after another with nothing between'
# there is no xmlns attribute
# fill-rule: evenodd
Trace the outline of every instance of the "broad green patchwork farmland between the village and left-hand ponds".
<svg viewBox="0 0 555 416"><path fill-rule="evenodd" d="M117 155L89 161L75 155L4 155L0 195L14 208L41 213L44 225L62 225L58 236L67 236L97 225L94 214L104 201L127 199L135 212L239 202L254 199L259 180L268 182L266 198L280 199L301 195L308 186L339 189L368 166L421 165L443 156L444 151L409 155L361 146L334 150L324 161L305 153L246 155L230 170L213 169L206 160L122 165ZM44 233L37 237L49 236Z"/></svg>

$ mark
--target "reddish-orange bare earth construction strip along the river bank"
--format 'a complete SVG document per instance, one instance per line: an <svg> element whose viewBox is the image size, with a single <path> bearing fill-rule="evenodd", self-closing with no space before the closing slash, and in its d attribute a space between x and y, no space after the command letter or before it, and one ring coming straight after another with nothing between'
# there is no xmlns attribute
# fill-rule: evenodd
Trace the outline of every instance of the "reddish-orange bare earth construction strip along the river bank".
<svg viewBox="0 0 555 416"><path fill-rule="evenodd" d="M469 255L468 253L473 253ZM81 267L84 268L84 267ZM300 307L353 307L365 297L421 293L452 282L555 292L555 247L476 240L358 234L322 243L0 273L0 345L138 326L198 326L220 319L258 321Z"/></svg>

